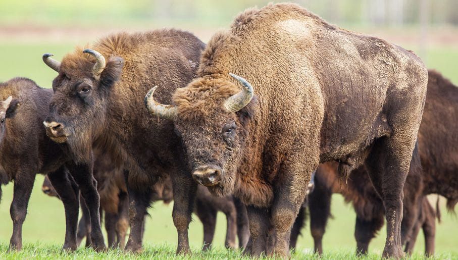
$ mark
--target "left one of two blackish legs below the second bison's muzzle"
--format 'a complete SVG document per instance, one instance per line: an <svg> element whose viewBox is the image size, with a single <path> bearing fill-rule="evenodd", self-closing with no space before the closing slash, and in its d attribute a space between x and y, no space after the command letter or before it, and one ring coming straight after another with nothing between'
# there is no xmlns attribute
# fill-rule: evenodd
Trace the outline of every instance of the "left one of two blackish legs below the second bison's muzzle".
<svg viewBox="0 0 458 260"><path fill-rule="evenodd" d="M57 194L64 203L65 210L65 240L64 250L76 250L78 241L76 229L78 226L78 194L79 190L75 181L71 178L65 167L56 172L48 173L48 178Z"/></svg>

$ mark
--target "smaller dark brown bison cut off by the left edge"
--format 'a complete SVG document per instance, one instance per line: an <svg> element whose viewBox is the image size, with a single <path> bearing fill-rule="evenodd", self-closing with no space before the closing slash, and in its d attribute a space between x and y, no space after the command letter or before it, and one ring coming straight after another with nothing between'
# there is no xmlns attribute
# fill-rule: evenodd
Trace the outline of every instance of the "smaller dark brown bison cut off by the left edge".
<svg viewBox="0 0 458 260"><path fill-rule="evenodd" d="M22 224L37 173L48 174L64 203L64 248L71 248L76 241L78 186L68 170L74 169L74 164L62 147L46 136L42 125L52 95L52 90L26 78L0 83L0 181L14 181L10 249L22 248Z"/></svg>

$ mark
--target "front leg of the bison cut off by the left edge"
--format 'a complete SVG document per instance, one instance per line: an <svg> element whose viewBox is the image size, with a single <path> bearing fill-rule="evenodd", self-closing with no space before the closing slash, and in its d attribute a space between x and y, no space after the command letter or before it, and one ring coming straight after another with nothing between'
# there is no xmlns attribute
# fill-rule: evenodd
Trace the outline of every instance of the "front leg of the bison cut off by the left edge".
<svg viewBox="0 0 458 260"><path fill-rule="evenodd" d="M35 173L21 171L14 180L13 202L11 202L10 214L13 220L13 235L10 240L10 250L22 249L22 224L27 215L27 205L32 193Z"/></svg>

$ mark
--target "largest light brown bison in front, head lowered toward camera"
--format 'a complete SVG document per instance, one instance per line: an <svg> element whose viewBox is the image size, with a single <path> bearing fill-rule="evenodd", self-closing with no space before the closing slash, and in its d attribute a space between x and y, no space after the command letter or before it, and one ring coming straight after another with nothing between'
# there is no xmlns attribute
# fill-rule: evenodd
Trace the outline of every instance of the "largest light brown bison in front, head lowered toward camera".
<svg viewBox="0 0 458 260"><path fill-rule="evenodd" d="M214 35L198 78L172 105L154 101L154 89L145 98L151 113L174 121L193 178L248 205L247 253L266 251L271 226L268 253L288 254L311 173L337 160L344 175L362 163L370 170L390 223L383 255L401 257L402 186L427 80L411 51L276 4Z"/></svg>

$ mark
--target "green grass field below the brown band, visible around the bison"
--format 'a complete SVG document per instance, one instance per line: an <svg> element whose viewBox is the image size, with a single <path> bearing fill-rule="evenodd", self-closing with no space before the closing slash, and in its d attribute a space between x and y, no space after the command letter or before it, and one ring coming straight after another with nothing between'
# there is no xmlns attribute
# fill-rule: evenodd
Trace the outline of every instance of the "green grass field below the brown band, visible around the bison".
<svg viewBox="0 0 458 260"><path fill-rule="evenodd" d="M27 44L2 43L0 41L0 82L12 77L22 76L35 80L43 87L49 87L56 73L46 67L41 61L43 53L51 52L60 60L65 53L72 51L74 43L56 44ZM79 44L84 44L80 42ZM433 48L426 53L428 68L442 72L446 77L458 84L458 47ZM65 222L62 203L56 198L50 198L41 192L43 176L38 175L29 203L27 219L23 227L24 250L20 253L7 253L8 243L12 232L12 221L9 206L13 195L13 185L3 187L3 199L0 204L0 258L172 258L177 242L176 230L172 222L172 205L157 203L149 210L151 215L146 221L144 236L144 253L140 255L124 254L121 251L95 253L89 249L79 249L75 253L62 252ZM435 196L432 197L435 200ZM442 200L443 202L443 200ZM445 213L442 203L442 223L437 225L436 257L458 258L458 223L456 216ZM329 221L324 237L325 258L353 258L356 243L353 238L355 215L351 207L343 203L340 195L334 195L332 214L334 219ZM224 215L218 215L218 225L214 241L214 249L208 253L199 253L202 242L202 226L195 219L190 225L190 244L193 257L196 258L238 258L237 251L227 251L223 247L226 220ZM293 258L316 258L311 252L313 240L307 228L302 231L298 249ZM370 245L371 254L368 258L378 259L383 250L385 228ZM415 257L422 258L424 240L420 233L415 248ZM182 258L187 258L182 257Z"/></svg>

